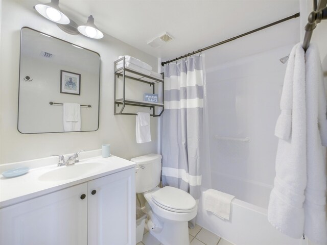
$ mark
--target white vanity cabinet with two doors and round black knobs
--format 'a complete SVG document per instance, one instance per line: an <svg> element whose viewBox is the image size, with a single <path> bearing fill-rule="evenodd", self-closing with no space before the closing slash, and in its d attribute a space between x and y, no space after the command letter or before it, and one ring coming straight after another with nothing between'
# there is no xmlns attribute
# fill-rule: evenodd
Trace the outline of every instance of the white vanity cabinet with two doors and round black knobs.
<svg viewBox="0 0 327 245"><path fill-rule="evenodd" d="M1 208L0 245L135 245L134 175L129 168Z"/></svg>

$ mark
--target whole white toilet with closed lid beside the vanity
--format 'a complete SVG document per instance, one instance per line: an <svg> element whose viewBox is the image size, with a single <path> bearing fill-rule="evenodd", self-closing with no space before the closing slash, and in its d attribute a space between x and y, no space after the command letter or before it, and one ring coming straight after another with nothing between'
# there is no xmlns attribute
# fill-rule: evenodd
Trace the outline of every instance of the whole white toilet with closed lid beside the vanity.
<svg viewBox="0 0 327 245"><path fill-rule="evenodd" d="M136 163L136 193L143 193L146 199L150 233L164 245L190 245L188 222L197 214L195 199L175 187L158 187L161 155L148 154L131 161Z"/></svg>

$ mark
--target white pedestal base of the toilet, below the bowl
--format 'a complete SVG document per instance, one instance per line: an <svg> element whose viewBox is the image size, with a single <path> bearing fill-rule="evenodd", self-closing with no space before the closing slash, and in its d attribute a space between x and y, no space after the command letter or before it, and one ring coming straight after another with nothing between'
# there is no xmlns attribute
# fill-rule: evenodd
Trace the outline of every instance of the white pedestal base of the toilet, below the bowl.
<svg viewBox="0 0 327 245"><path fill-rule="evenodd" d="M162 221L162 220L161 220ZM161 223L162 229L160 231L152 230L149 227L149 232L157 240L164 245L190 245L189 240L189 225L187 221L183 222L169 222L165 220Z"/></svg>

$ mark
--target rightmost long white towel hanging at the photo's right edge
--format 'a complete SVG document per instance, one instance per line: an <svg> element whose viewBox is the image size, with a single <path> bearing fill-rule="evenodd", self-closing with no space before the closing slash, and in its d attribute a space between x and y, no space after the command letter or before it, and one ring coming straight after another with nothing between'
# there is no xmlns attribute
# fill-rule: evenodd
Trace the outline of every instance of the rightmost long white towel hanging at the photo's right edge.
<svg viewBox="0 0 327 245"><path fill-rule="evenodd" d="M320 103L319 103L320 102ZM319 53L314 44L306 51L307 187L304 234L314 243L327 244L326 227L326 96ZM319 128L318 128L319 127ZM320 130L320 134L319 133Z"/></svg>

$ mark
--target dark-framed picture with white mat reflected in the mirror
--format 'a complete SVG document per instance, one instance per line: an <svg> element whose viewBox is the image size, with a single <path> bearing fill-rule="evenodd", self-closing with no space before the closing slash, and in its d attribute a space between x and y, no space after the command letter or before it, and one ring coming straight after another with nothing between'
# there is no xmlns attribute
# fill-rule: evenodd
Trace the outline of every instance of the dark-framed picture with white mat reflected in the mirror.
<svg viewBox="0 0 327 245"><path fill-rule="evenodd" d="M81 94L81 75L75 72L60 70L60 93Z"/></svg>

